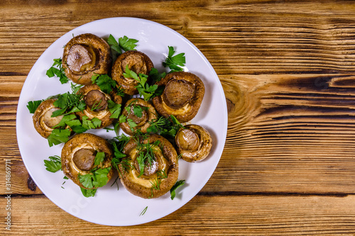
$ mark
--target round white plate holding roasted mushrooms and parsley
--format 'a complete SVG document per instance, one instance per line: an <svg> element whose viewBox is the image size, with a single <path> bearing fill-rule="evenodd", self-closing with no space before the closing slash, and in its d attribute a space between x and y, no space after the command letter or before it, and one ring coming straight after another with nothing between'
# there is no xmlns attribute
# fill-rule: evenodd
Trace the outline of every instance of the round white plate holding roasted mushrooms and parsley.
<svg viewBox="0 0 355 236"><path fill-rule="evenodd" d="M177 53L185 52L185 71L197 74L204 82L206 89L204 100L197 116L190 123L202 125L209 130L213 139L212 152L207 159L198 163L188 163L180 159L179 179L185 179L186 183L177 190L177 196L173 201L170 199L170 193L155 199L139 198L126 191L121 184L117 191L116 184L111 186L114 179L111 179L107 186L98 189L94 197L85 198L79 186L63 179L62 172L51 173L45 170L43 159L48 159L52 155L60 156L62 144L48 146L47 140L35 131L32 114L28 112L26 105L28 101L70 91L69 84L62 85L58 78L48 78L45 72L52 66L53 59L62 57L63 46L72 36L82 33L93 33L102 38L108 38L109 34L115 38L124 35L135 38L139 40L136 49L151 57L160 72L164 71L161 62L168 53L168 46L173 46ZM139 18L106 18L94 21L75 28L56 40L43 52L28 74L18 101L16 118L18 147L23 162L45 196L77 218L101 225L116 226L138 225L157 220L190 201L207 183L217 167L226 140L226 129L224 91L206 57L195 45L174 30ZM104 138L115 136L113 131L107 133L106 130L94 130L92 133ZM62 184L64 181L65 184ZM147 206L146 213L140 215Z"/></svg>

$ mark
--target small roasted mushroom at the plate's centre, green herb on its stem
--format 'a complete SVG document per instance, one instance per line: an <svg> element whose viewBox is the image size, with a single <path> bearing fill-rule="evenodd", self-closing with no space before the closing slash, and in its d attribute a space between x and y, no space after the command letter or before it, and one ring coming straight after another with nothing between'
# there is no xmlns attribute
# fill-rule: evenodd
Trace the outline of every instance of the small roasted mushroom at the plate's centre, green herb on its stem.
<svg viewBox="0 0 355 236"><path fill-rule="evenodd" d="M128 110L128 111L127 111ZM133 135L135 130L141 130L142 133L147 133L147 129L157 119L155 108L148 101L143 99L129 99L124 106L122 115L126 116L126 122L120 123L119 126L128 135ZM135 127L131 127L129 124L135 123Z"/></svg>

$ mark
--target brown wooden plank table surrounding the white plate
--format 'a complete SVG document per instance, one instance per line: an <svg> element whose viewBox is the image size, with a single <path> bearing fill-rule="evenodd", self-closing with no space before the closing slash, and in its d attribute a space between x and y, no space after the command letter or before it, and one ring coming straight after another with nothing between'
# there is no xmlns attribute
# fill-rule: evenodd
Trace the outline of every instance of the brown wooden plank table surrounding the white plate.
<svg viewBox="0 0 355 236"><path fill-rule="evenodd" d="M202 191L131 227L88 223L55 206L16 142L18 97L38 57L67 31L117 16L162 23L194 43L216 70L229 111L224 152ZM354 1L331 0L1 1L0 234L354 234L354 16Z"/></svg>

